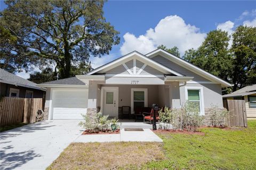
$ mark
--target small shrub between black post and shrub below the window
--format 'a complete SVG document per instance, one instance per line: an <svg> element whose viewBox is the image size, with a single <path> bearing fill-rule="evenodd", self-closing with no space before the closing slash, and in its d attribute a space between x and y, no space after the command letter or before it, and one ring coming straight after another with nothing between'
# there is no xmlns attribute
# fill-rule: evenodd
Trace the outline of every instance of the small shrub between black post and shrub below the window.
<svg viewBox="0 0 256 170"><path fill-rule="evenodd" d="M171 124L175 120L177 114L169 109L169 107L161 108L159 113L159 129L171 129Z"/></svg>

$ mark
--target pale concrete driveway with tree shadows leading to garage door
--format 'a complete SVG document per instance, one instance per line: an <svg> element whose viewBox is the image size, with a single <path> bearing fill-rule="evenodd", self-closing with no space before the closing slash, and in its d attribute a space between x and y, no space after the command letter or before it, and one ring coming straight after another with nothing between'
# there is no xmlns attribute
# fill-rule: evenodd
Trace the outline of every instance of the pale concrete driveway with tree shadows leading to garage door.
<svg viewBox="0 0 256 170"><path fill-rule="evenodd" d="M79 122L43 121L0 133L0 169L45 169L79 137Z"/></svg>

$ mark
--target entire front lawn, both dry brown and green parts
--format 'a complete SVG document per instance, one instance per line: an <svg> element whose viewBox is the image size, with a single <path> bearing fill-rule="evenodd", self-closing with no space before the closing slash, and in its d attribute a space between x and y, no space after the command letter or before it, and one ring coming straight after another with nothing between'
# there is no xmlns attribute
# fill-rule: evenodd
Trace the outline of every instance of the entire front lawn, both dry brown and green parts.
<svg viewBox="0 0 256 170"><path fill-rule="evenodd" d="M163 144L72 143L48 169L256 169L256 121L248 125L157 133Z"/></svg>

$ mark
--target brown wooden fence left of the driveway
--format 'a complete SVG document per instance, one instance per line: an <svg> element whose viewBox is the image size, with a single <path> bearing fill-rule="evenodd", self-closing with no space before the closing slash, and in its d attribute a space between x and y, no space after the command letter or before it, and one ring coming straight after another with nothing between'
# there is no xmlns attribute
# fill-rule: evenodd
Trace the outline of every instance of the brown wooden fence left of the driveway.
<svg viewBox="0 0 256 170"><path fill-rule="evenodd" d="M36 112L43 108L42 98L12 98L4 97L0 101L1 127L17 123L36 122Z"/></svg>

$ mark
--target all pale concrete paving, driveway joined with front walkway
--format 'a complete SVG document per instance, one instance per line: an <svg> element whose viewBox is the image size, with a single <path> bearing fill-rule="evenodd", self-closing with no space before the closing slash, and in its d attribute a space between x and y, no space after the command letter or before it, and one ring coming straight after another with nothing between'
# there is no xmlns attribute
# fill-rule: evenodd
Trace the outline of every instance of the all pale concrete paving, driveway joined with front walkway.
<svg viewBox="0 0 256 170"><path fill-rule="evenodd" d="M45 169L71 142L162 142L150 129L141 132L121 129L120 134L81 135L80 121L42 121L1 132L0 169Z"/></svg>

